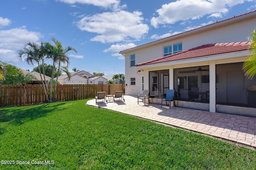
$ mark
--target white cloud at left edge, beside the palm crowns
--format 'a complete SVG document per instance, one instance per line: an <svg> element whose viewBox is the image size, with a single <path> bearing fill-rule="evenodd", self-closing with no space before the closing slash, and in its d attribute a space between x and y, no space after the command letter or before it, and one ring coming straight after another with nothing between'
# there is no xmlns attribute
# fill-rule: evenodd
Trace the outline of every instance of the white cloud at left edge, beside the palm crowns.
<svg viewBox="0 0 256 170"><path fill-rule="evenodd" d="M39 32L31 32L26 27L0 30L0 61L18 61L16 52L28 41L36 42L43 37Z"/></svg>

